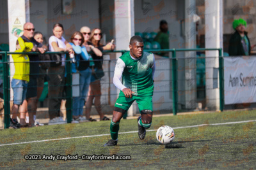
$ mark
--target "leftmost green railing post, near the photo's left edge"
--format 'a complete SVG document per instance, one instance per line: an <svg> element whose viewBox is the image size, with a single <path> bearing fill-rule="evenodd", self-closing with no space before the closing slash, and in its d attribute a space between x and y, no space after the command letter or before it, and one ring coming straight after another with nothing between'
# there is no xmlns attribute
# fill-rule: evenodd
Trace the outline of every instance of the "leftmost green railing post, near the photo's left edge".
<svg viewBox="0 0 256 170"><path fill-rule="evenodd" d="M4 129L10 126L10 74L7 52L3 56L3 90L4 90Z"/></svg>

